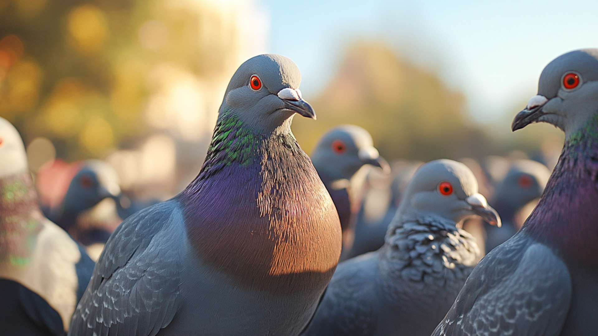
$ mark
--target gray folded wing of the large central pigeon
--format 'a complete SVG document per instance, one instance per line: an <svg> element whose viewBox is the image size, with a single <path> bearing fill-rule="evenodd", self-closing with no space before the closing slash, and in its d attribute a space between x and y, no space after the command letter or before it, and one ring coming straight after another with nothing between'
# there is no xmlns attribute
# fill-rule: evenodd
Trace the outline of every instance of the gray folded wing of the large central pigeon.
<svg viewBox="0 0 598 336"><path fill-rule="evenodd" d="M173 248L182 230L174 200L124 221L106 243L75 310L69 335L155 335L175 316L180 258Z"/></svg>

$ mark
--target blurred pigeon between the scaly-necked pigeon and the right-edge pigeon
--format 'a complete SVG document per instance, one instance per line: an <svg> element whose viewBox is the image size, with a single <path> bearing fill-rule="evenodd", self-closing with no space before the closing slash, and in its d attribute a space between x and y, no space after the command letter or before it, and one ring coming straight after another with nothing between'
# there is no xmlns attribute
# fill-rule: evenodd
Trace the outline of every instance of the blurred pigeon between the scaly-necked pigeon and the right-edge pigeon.
<svg viewBox="0 0 598 336"><path fill-rule="evenodd" d="M519 159L511 164L505 178L496 186L490 202L501 216L502 227L498 229L484 225L486 253L506 242L519 230L518 213L542 195L549 177L550 170L537 161Z"/></svg>

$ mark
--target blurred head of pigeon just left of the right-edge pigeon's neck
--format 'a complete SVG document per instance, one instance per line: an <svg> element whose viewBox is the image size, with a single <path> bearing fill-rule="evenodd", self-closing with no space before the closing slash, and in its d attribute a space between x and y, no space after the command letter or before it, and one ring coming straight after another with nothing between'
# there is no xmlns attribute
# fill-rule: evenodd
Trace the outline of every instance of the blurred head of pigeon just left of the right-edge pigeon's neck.
<svg viewBox="0 0 598 336"><path fill-rule="evenodd" d="M511 164L507 175L496 187L495 200L519 209L542 196L550 170L537 161L520 159Z"/></svg>

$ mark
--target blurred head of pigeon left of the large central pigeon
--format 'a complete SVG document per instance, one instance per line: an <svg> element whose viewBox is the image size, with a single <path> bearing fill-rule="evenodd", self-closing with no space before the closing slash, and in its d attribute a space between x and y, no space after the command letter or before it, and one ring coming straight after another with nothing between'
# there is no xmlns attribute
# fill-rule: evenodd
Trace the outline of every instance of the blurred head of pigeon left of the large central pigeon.
<svg viewBox="0 0 598 336"><path fill-rule="evenodd" d="M118 174L108 163L87 160L66 191L64 207L71 212L90 209L105 198L117 199L120 194Z"/></svg>

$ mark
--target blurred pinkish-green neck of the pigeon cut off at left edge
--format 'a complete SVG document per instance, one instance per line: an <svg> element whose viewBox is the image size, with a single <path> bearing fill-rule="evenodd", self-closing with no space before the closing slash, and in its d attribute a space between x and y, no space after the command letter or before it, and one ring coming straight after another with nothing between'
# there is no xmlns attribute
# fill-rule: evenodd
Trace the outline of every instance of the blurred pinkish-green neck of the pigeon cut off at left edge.
<svg viewBox="0 0 598 336"><path fill-rule="evenodd" d="M0 262L29 263L41 219L29 173L0 179Z"/></svg>

